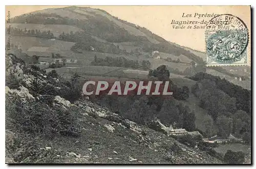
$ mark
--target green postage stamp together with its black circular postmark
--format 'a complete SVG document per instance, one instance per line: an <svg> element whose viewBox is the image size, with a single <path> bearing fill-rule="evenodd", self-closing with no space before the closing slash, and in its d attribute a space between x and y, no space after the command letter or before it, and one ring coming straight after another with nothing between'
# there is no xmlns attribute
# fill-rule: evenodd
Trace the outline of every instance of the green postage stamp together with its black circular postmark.
<svg viewBox="0 0 256 169"><path fill-rule="evenodd" d="M248 31L240 18L223 14L212 18L207 26L216 28L206 31L207 63L235 63L245 57Z"/></svg>

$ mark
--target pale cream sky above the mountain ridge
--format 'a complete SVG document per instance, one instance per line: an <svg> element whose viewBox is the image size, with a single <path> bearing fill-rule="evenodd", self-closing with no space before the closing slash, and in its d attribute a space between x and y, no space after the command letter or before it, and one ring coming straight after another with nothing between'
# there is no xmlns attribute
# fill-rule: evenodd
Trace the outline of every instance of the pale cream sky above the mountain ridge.
<svg viewBox="0 0 256 169"><path fill-rule="evenodd" d="M47 8L67 6L6 6L11 17ZM204 29L174 29L172 21L202 21L210 17L194 17L198 14L232 14L239 16L250 27L249 6L81 6L105 10L122 20L146 27L167 41L196 50L205 51ZM184 13L184 14L183 14ZM192 17L182 17L191 14Z"/></svg>

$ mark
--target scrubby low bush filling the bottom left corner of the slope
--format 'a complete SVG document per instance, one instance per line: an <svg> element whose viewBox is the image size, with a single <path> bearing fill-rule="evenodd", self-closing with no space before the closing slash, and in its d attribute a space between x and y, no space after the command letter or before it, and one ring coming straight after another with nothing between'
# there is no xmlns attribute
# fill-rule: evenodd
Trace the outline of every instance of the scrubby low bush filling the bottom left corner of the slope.
<svg viewBox="0 0 256 169"><path fill-rule="evenodd" d="M41 138L34 135L6 131L7 163L56 163L65 152L46 149Z"/></svg>

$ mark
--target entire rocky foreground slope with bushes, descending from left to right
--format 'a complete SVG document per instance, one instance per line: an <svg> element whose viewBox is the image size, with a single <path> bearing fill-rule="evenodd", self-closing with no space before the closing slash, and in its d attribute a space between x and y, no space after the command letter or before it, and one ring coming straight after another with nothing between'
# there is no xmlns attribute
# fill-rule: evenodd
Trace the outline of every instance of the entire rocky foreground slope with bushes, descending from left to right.
<svg viewBox="0 0 256 169"><path fill-rule="evenodd" d="M7 163L222 163L86 97L71 103L55 95L69 87L12 54L6 55L6 77ZM54 118L61 120L55 125Z"/></svg>

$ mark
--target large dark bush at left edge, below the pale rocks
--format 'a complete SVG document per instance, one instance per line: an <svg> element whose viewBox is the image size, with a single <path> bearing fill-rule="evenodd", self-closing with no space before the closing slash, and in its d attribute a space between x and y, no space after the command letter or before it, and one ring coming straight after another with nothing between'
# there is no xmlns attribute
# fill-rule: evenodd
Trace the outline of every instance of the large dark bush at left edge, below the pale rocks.
<svg viewBox="0 0 256 169"><path fill-rule="evenodd" d="M81 127L76 111L61 106L50 107L44 102L7 98L7 125L15 131L54 137L56 134L79 136Z"/></svg>

